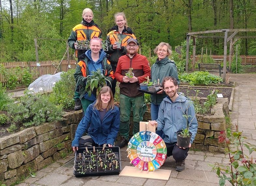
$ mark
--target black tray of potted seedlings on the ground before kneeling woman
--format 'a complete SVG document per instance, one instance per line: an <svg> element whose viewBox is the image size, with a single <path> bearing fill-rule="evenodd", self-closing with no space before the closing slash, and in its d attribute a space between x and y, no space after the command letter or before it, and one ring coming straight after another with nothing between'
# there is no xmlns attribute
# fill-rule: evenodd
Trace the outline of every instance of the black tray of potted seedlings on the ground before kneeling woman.
<svg viewBox="0 0 256 186"><path fill-rule="evenodd" d="M119 174L121 155L119 147L79 147L75 153L75 177Z"/></svg>

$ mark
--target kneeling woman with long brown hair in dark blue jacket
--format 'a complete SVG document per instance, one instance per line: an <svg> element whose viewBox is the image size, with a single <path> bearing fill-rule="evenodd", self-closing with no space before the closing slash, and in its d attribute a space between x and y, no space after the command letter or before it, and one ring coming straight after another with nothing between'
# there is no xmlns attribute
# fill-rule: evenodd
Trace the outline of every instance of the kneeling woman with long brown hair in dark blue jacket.
<svg viewBox="0 0 256 186"><path fill-rule="evenodd" d="M82 136L89 124L88 135ZM73 150L78 150L79 146L99 147L104 144L112 147L119 131L119 124L119 108L114 106L111 88L104 86L99 91L98 98L86 109L76 129L75 138L72 141Z"/></svg>

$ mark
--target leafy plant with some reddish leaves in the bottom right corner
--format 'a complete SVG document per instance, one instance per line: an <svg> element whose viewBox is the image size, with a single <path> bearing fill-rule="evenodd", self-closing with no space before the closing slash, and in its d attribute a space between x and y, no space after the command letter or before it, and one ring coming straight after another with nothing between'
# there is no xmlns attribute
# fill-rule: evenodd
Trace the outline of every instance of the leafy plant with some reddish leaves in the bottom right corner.
<svg viewBox="0 0 256 186"><path fill-rule="evenodd" d="M226 153L229 155L229 165L221 165L215 163L213 169L219 179L219 185L224 186L226 180L233 186L255 186L256 185L256 163L253 161L252 156L249 157L244 153L244 148L248 150L249 155L256 151L256 146L252 145L244 139L242 132L238 131L236 126L236 132L233 132L233 140L229 139L225 131L220 132L218 142L225 142L227 148ZM231 150L231 145L234 145L236 150Z"/></svg>

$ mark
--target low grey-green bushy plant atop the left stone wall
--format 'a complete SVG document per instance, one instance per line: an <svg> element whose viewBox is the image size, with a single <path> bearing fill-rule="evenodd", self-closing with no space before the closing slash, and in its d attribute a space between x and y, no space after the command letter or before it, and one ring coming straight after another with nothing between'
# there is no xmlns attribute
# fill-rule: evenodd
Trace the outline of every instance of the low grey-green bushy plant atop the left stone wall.
<svg viewBox="0 0 256 186"><path fill-rule="evenodd" d="M60 120L63 114L61 107L49 101L48 95L22 97L19 103L6 104L5 109L12 123L9 131L16 130L19 125L29 127Z"/></svg>

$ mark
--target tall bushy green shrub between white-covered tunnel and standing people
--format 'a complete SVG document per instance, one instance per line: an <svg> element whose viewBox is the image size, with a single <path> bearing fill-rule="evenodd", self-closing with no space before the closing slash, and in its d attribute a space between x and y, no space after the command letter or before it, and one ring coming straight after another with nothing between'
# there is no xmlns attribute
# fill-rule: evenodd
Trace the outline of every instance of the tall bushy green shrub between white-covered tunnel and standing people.
<svg viewBox="0 0 256 186"><path fill-rule="evenodd" d="M75 69L63 72L60 75L61 79L56 82L53 87L53 92L50 94L51 101L66 110L72 109L75 106L75 101L73 99L76 89L74 72Z"/></svg>

